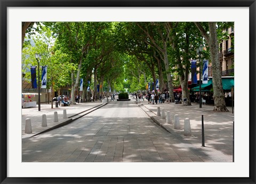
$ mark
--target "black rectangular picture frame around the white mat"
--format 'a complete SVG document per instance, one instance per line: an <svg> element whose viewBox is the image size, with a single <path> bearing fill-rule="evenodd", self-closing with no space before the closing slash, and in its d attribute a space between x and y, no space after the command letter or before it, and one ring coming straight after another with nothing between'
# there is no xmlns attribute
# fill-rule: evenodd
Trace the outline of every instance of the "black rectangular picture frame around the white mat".
<svg viewBox="0 0 256 184"><path fill-rule="evenodd" d="M255 0L80 0L80 1L30 1L0 0L0 182L1 183L255 183ZM246 97L250 107L250 168L248 178L8 178L7 177L7 7L249 7L250 8L250 87ZM240 98L240 97L238 97ZM244 98L244 97L241 97ZM242 168L241 168L242 169Z"/></svg>

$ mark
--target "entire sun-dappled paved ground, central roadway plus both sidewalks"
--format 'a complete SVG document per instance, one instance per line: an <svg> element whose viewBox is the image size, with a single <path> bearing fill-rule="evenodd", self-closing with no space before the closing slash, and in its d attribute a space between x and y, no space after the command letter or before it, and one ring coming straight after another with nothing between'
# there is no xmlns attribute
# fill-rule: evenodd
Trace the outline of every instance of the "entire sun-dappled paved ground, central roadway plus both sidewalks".
<svg viewBox="0 0 256 184"><path fill-rule="evenodd" d="M67 114L71 115L99 103L80 103L65 108ZM157 106L165 107L166 111L170 108L173 110L172 116L177 108L175 114L180 114L181 129L182 118L192 114L190 124L193 135L185 137L182 130L167 132L155 124L133 99L111 101L59 129L33 138L29 138L31 134L22 133L22 162L232 162L233 121L228 119L227 114L216 114L210 119L210 115L214 116L215 113L203 106L208 114L205 114L206 147L201 147L201 110L195 108L196 113L193 113L189 108L193 110L194 106L175 106L174 103L148 105L147 101L142 101L142 104L155 112ZM186 109L182 114L183 108ZM49 113L47 118L49 116L50 119L53 111L43 108L41 112L31 108L22 109L22 124L23 119L25 121L29 116L34 117L34 121L37 121L34 130L38 127L39 131L41 114Z"/></svg>

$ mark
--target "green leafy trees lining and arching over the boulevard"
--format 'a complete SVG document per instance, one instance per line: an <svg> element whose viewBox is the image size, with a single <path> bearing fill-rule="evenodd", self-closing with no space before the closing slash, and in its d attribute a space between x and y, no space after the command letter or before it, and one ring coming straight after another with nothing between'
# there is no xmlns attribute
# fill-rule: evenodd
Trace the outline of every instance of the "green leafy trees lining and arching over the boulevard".
<svg viewBox="0 0 256 184"><path fill-rule="evenodd" d="M184 104L190 106L191 60L202 56L212 65L213 110L228 111L219 43L229 39L223 30L231 26L234 22L22 22L23 80L29 82L27 70L37 65L34 55L40 53L40 65L48 67L50 101L54 92L61 95L64 89L70 91L73 104L76 95L90 101L116 92L145 93L147 83L156 85L159 79L159 91L169 91L171 102L173 87L180 85ZM198 46L203 47L199 55Z"/></svg>

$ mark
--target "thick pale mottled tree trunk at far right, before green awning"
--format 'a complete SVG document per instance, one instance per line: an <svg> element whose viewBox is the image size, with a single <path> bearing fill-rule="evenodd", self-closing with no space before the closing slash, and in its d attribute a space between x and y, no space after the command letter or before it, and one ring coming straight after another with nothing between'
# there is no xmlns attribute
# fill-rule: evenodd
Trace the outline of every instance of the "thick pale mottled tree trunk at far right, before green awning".
<svg viewBox="0 0 256 184"><path fill-rule="evenodd" d="M216 22L209 22L209 47L212 60L212 83L213 99L215 111L228 111L225 103L225 95L222 88L220 61L219 61L219 44L217 39Z"/></svg>

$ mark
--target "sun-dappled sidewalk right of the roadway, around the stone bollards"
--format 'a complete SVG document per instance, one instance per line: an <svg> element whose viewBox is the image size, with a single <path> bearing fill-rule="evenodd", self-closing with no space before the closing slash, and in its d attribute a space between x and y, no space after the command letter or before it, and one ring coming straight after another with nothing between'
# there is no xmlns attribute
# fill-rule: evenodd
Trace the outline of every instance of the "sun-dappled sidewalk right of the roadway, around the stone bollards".
<svg viewBox="0 0 256 184"><path fill-rule="evenodd" d="M183 106L175 103L155 103L154 105L148 101L140 101L139 105L143 105L149 111L153 112L152 116L157 119L166 129L179 134L184 140L188 140L196 147L202 146L202 115L204 115L204 131L205 131L205 149L217 149L223 154L231 156L233 154L233 121L231 107L227 107L229 112L213 111L212 105L202 105L192 103L192 106ZM172 124L166 124L166 119L156 116L157 107L164 109L165 116L167 111L171 112ZM180 130L174 129L174 115L178 114L180 118ZM191 137L183 135L184 120L190 119Z"/></svg>

